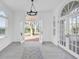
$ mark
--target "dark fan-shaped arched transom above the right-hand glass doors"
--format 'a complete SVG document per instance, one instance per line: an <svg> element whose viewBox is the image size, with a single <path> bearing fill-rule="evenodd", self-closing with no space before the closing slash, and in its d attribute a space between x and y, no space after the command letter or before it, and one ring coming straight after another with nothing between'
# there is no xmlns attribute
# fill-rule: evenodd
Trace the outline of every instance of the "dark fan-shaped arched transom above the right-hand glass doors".
<svg viewBox="0 0 79 59"><path fill-rule="evenodd" d="M63 8L63 10L61 12L61 17L69 14L70 12L73 12L72 10L74 10L77 7L79 7L79 1L72 1L72 2L68 3ZM76 9L74 11L76 11Z"/></svg>

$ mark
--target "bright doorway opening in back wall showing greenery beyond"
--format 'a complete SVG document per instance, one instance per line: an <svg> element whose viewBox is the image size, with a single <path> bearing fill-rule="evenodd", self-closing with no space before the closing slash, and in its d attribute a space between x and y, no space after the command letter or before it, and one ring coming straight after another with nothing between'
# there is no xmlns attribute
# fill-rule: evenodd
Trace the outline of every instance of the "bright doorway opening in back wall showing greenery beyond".
<svg viewBox="0 0 79 59"><path fill-rule="evenodd" d="M37 21L24 22L24 41L39 42L40 41L40 25Z"/></svg>

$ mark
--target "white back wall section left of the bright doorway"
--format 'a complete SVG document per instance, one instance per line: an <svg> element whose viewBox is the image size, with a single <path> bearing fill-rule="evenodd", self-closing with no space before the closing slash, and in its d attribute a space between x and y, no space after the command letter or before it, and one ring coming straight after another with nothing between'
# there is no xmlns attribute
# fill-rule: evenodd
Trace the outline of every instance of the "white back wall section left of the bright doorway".
<svg viewBox="0 0 79 59"><path fill-rule="evenodd" d="M13 21L13 24L14 24L14 29L13 29L13 37L14 37L14 42L16 41L20 41L22 40L21 38L21 32L23 32L23 21L24 21L24 12L14 12L14 21Z"/></svg>

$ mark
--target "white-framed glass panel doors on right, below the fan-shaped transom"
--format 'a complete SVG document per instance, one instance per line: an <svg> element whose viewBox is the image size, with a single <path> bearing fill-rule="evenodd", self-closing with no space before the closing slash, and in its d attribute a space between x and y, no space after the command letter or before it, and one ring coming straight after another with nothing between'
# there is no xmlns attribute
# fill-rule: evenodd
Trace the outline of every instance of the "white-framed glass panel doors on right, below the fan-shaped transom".
<svg viewBox="0 0 79 59"><path fill-rule="evenodd" d="M60 20L60 44L79 54L79 16Z"/></svg>

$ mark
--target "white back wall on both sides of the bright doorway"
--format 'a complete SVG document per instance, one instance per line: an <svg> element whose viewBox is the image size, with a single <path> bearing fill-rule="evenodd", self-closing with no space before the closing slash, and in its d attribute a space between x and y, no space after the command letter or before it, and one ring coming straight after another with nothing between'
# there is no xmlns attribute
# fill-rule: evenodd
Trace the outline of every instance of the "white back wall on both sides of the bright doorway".
<svg viewBox="0 0 79 59"><path fill-rule="evenodd" d="M21 27L22 22L24 21L24 12L15 12L14 13L14 40L22 40L20 33L23 32ZM42 41L52 41L52 11L38 12L37 20L41 21L41 36Z"/></svg>

